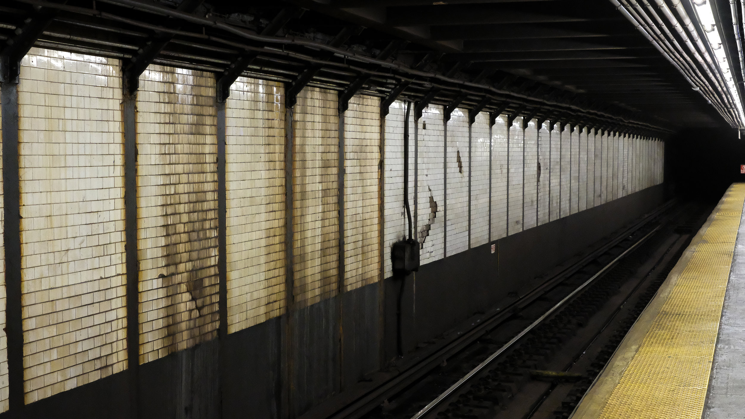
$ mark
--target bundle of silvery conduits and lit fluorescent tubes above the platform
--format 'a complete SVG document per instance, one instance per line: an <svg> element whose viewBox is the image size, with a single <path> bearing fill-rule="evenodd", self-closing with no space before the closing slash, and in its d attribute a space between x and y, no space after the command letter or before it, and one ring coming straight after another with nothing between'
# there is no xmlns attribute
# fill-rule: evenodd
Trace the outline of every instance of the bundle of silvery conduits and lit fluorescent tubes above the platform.
<svg viewBox="0 0 745 419"><path fill-rule="evenodd" d="M685 0L691 2L696 22L691 19L681 0L610 1L680 71L691 83L691 88L700 92L717 109L731 127L745 128L741 89L738 89L738 80L732 71L732 57L729 57L729 50L723 45L723 28L717 24L708 2L713 0ZM741 0L730 0L738 61L743 63L735 1L741 4L741 10L745 10L745 6ZM665 17L664 20L660 14ZM742 64L741 69L745 79L745 66Z"/></svg>

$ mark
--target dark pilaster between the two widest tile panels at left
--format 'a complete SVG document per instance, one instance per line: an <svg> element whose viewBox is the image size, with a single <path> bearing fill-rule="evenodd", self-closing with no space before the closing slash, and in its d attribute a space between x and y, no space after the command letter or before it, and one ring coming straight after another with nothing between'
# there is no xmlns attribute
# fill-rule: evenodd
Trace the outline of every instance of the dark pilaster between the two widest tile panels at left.
<svg viewBox="0 0 745 419"><path fill-rule="evenodd" d="M139 263L137 262L137 93L122 100L124 254L127 263L127 371L130 417L139 418ZM7 236L6 236L7 237Z"/></svg>

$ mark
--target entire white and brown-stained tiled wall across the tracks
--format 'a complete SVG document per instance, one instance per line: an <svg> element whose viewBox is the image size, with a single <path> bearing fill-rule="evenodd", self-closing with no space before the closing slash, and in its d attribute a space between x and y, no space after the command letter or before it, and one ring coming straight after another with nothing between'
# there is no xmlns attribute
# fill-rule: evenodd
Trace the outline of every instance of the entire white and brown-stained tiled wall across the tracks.
<svg viewBox="0 0 745 419"><path fill-rule="evenodd" d="M23 61L19 162L28 402L123 371L130 362L121 101L117 60L34 49ZM285 313L286 292L295 307L306 307L378 281L381 269L390 276L390 245L406 234L404 103L393 103L381 124L378 98L353 97L342 150L336 92L303 89L291 112L283 103L280 83L241 77L225 104L229 333ZM217 335L215 77L151 65L140 77L136 105L140 357L131 361L148 362ZM293 117L292 167L285 167L287 115ZM422 263L663 180L664 144L647 138L549 132L536 121L523 129L521 118L508 128L504 115L489 127L484 112L469 127L463 109L452 113L446 137L442 106L413 119L409 202ZM288 173L294 243L285 243ZM287 246L292 267L286 266ZM285 290L287 269L293 269L294 290ZM3 272L4 259L0 277ZM0 412L8 394L4 295L0 278Z"/></svg>

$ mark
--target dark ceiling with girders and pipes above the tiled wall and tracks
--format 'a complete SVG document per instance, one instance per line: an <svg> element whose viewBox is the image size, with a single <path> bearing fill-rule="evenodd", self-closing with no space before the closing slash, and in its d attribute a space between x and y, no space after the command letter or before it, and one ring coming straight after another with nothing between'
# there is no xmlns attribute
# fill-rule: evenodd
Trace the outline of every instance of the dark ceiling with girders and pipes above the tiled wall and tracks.
<svg viewBox="0 0 745 419"><path fill-rule="evenodd" d="M285 82L288 105L308 85L639 132L726 124L606 0L7 0L2 51L32 25L34 45L120 58L131 92L159 63L215 72L218 100L246 75Z"/></svg>

